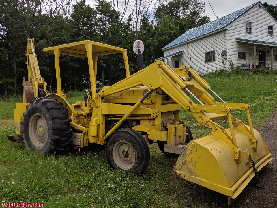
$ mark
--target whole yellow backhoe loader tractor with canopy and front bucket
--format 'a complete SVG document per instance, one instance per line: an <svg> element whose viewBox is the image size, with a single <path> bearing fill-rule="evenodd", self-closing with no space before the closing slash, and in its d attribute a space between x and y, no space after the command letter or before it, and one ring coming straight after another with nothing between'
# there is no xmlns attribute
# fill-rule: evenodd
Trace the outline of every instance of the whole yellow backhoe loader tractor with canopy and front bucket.
<svg viewBox="0 0 277 208"><path fill-rule="evenodd" d="M89 40L43 51L55 55L57 92L46 90L34 39L28 39L29 77L23 78L23 102L16 103L14 110L19 135L8 136L31 151L49 155L64 153L69 144L76 148L106 144L112 168L143 174L149 164L147 143L158 143L166 155L179 155L173 167L177 176L229 196L229 204L272 159L252 127L249 105L224 102L189 66L173 71L165 62L156 61L130 75L126 49ZM123 55L126 78L96 88L98 56L116 53ZM61 54L87 58L91 92L86 91L85 101L66 101L61 88ZM181 108L210 129L207 136L192 140L188 126L179 121ZM232 109L243 110L248 125L233 117ZM218 120L225 120L229 128L224 129Z"/></svg>

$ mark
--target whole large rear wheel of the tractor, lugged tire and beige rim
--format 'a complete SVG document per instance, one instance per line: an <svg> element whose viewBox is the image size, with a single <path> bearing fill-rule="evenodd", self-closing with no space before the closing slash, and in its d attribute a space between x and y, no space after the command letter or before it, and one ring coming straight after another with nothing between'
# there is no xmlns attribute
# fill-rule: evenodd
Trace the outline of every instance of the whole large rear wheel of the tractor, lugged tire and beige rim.
<svg viewBox="0 0 277 208"><path fill-rule="evenodd" d="M68 150L71 119L63 104L54 98L34 99L23 113L23 138L31 151L50 155Z"/></svg>

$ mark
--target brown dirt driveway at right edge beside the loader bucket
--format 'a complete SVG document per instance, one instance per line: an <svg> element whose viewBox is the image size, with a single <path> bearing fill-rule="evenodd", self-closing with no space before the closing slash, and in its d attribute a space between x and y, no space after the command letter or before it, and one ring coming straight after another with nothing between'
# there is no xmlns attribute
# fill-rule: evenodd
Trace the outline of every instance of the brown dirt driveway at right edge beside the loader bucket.
<svg viewBox="0 0 277 208"><path fill-rule="evenodd" d="M277 110L277 109L276 109ZM255 180L248 184L236 199L233 207L262 208L277 207L277 111L272 114L265 127L257 129L272 154L272 161L259 174L256 187Z"/></svg>

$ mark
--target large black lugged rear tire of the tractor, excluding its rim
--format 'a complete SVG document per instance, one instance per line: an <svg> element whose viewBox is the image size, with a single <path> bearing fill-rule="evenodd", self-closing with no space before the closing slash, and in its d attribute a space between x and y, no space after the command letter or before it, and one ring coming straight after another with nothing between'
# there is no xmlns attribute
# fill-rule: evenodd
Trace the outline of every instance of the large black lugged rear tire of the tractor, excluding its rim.
<svg viewBox="0 0 277 208"><path fill-rule="evenodd" d="M35 114L40 113L46 120L48 125L48 139L43 147L35 146L30 139L29 123L30 118ZM62 154L68 150L70 142L70 128L71 119L68 118L67 110L64 109L63 103L58 102L54 98L42 97L34 99L26 107L23 113L23 138L25 145L32 151L50 154Z"/></svg>

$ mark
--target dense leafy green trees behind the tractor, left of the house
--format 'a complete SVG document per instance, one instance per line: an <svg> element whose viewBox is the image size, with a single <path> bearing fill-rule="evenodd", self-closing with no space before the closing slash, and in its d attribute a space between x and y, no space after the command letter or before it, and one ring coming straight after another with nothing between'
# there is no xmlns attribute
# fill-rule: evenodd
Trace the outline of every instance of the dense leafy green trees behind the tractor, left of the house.
<svg viewBox="0 0 277 208"><path fill-rule="evenodd" d="M119 10L105 0L97 0L93 6L86 0L77 1L72 5L70 16L66 11L55 12L55 5L40 9L43 5L44 1L40 0L0 0L0 94L8 96L22 92L23 76L28 79L25 64L27 38L35 39L41 76L45 78L47 87L55 89L55 57L42 52L43 48L82 40L125 48L132 74L138 71L136 54L132 50L136 38L144 42L143 59L147 66L163 55L162 47L188 29L209 21L203 16L203 0L169 1L159 5L154 16L148 18L142 12L139 31L134 31L131 14L130 18L122 21ZM87 58L61 55L60 70L61 84L67 91L90 88ZM122 55L98 57L97 81L116 83L125 77Z"/></svg>

